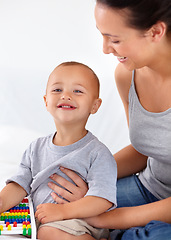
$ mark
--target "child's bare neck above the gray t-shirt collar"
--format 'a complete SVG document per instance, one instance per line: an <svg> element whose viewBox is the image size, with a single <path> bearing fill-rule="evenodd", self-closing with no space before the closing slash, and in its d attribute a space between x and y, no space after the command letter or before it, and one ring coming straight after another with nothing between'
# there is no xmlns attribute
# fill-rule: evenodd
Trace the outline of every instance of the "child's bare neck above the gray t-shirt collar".
<svg viewBox="0 0 171 240"><path fill-rule="evenodd" d="M53 143L58 146L67 146L71 145L77 141L79 141L81 138L83 138L87 134L87 130L85 128L83 129L77 129L77 128L57 128L57 133L53 139Z"/></svg>

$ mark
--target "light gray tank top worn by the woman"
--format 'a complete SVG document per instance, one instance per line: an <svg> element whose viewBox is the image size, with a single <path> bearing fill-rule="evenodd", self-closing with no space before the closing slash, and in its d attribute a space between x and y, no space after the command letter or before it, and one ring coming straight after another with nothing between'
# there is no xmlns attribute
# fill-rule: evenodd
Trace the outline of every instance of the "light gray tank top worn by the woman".
<svg viewBox="0 0 171 240"><path fill-rule="evenodd" d="M160 113L145 110L134 84L129 90L129 134L133 147L148 156L139 173L142 184L158 199L171 196L171 108Z"/></svg>

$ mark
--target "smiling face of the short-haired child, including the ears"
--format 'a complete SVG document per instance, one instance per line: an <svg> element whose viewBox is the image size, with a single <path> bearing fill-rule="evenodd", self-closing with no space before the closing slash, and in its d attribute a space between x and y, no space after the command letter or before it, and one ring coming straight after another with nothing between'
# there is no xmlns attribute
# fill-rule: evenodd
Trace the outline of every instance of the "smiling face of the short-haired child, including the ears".
<svg viewBox="0 0 171 240"><path fill-rule="evenodd" d="M95 77L89 69L78 65L59 66L52 72L44 100L56 124L84 126L101 104Z"/></svg>

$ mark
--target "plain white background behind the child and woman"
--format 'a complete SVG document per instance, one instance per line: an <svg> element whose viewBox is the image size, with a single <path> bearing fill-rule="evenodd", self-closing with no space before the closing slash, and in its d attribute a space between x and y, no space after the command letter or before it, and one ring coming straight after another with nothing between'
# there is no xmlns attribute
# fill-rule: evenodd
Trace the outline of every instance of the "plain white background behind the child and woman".
<svg viewBox="0 0 171 240"><path fill-rule="evenodd" d="M102 52L94 6L94 0L0 0L0 188L28 144L55 131L43 95L63 61L85 63L100 78L103 103L87 129L112 153L129 143L114 81L117 60Z"/></svg>

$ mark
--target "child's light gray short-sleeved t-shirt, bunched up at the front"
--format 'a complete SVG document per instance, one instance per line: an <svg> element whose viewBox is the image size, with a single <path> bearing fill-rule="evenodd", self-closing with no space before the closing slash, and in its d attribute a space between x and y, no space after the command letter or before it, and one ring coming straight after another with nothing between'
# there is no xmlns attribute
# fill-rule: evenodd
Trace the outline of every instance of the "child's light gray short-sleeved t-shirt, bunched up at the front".
<svg viewBox="0 0 171 240"><path fill-rule="evenodd" d="M116 162L108 150L92 133L88 132L78 142L68 146L53 144L54 134L38 138L25 151L17 175L7 180L22 186L33 199L34 209L42 203L54 203L48 182L57 173L70 182L59 167L78 173L88 183L86 196L107 199L116 207Z"/></svg>

